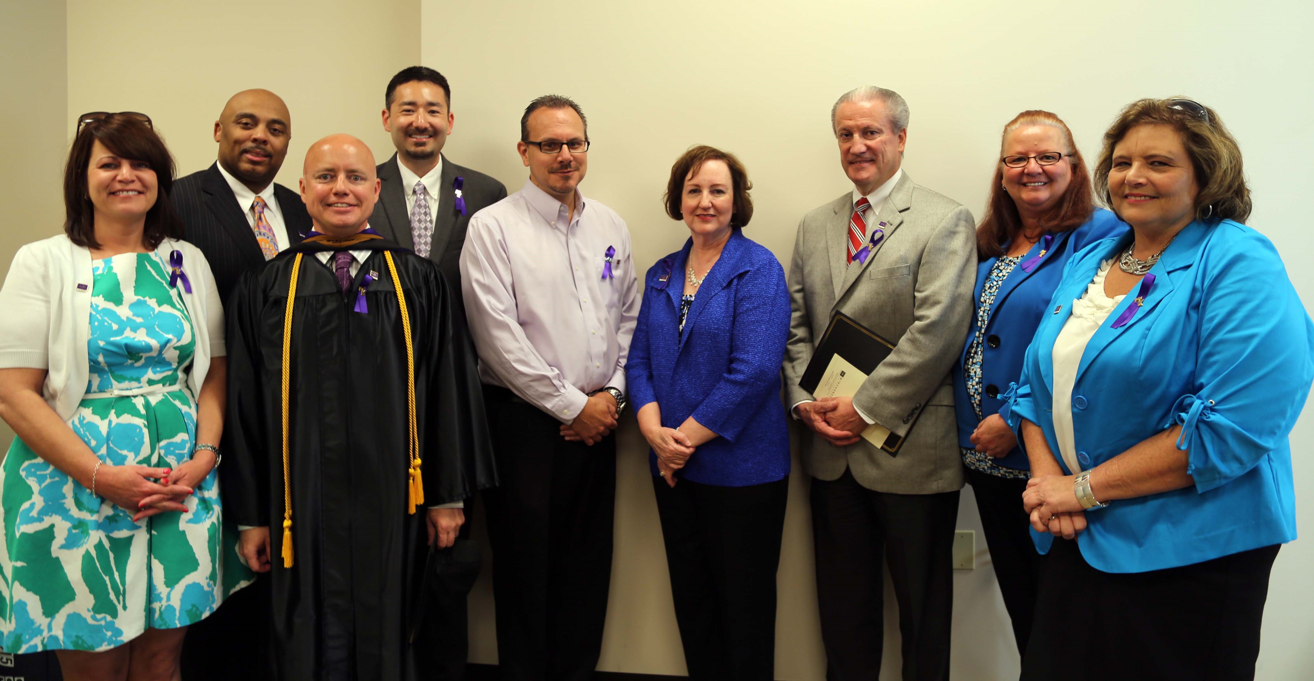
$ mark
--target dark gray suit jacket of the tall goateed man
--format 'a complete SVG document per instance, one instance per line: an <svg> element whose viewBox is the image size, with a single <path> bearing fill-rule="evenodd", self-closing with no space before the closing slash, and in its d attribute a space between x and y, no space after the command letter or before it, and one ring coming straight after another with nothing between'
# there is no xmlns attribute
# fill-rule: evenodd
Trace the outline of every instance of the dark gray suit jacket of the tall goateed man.
<svg viewBox="0 0 1314 681"><path fill-rule="evenodd" d="M406 188L402 186L402 173L397 168L397 154L378 164L376 168L378 178L382 180L382 189L378 196L378 205L374 214L369 217L369 226L384 239L397 241L403 248L415 248L415 237L410 230L410 213L406 211ZM464 178L461 197L465 198L465 214L456 210L456 190L452 182ZM456 291L452 299L455 304L464 310L461 304L461 247L465 245L465 226L474 215L486 206L491 206L506 198L506 186L502 182L478 172L457 165L443 156L443 178L439 182L438 210L434 220L434 240L428 252L438 269L447 279L448 290Z"/></svg>

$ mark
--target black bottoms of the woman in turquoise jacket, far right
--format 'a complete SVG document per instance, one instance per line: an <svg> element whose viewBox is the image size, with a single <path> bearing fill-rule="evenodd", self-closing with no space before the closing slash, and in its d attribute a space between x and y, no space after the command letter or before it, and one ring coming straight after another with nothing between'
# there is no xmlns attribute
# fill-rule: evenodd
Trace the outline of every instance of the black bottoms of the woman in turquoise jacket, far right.
<svg viewBox="0 0 1314 681"><path fill-rule="evenodd" d="M1077 542L1054 539L1022 680L1255 678L1279 548L1114 575L1091 567Z"/></svg>

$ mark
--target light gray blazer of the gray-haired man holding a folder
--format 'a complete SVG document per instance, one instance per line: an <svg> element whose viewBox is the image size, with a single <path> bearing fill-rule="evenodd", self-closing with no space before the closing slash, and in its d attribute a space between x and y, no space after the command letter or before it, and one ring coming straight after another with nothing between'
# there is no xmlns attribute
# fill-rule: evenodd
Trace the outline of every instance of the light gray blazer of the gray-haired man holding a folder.
<svg viewBox="0 0 1314 681"><path fill-rule="evenodd" d="M904 495L963 487L949 369L962 350L972 314L976 239L972 214L917 185L904 172L870 224L884 240L865 264L845 265L853 194L812 210L799 222L790 265L794 316L784 356L787 404L812 399L799 378L833 312L844 312L897 348L853 398L863 413L908 438L897 457L866 440L836 447L804 429L804 470L823 480L845 467L869 489ZM870 227L869 227L870 234ZM913 417L921 412L916 428Z"/></svg>

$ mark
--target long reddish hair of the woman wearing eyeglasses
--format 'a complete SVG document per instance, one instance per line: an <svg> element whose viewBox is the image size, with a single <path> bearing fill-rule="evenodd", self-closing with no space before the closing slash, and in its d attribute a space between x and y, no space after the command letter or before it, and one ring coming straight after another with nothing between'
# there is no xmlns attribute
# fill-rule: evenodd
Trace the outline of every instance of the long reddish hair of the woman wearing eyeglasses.
<svg viewBox="0 0 1314 681"><path fill-rule="evenodd" d="M1063 199L1059 201L1046 215L1039 219L1041 227L1049 232L1066 232L1075 230L1091 219L1095 213L1095 198L1091 192L1091 173L1085 169L1085 160L1081 151L1072 140L1072 130L1062 118L1050 112L1030 110L1017 114L1004 126L1004 135L1000 138L1000 154L1003 155L1004 139L1008 134L1022 126L1050 126L1062 135L1063 156L1072 165L1072 181L1068 182ZM1054 150L1059 151L1059 150ZM1063 161L1059 161L1063 163ZM1017 239L1022 232L1022 215L1017 211L1013 197L1004 190L1004 163L995 163L995 180L989 188L989 202L986 203L986 217L976 227L976 257L987 260L1004 255L1004 247Z"/></svg>

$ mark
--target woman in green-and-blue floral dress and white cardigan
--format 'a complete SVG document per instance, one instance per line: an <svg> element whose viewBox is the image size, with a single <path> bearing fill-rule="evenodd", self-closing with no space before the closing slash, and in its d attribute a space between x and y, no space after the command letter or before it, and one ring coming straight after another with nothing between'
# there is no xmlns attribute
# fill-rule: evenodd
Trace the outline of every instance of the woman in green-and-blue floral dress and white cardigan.
<svg viewBox="0 0 1314 681"><path fill-rule="evenodd" d="M137 113L79 119L64 232L0 290L0 646L64 678L173 680L187 626L251 579L223 531L223 314Z"/></svg>

